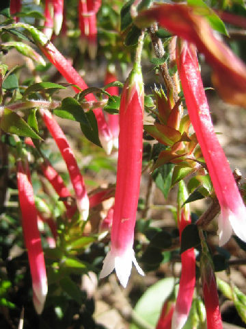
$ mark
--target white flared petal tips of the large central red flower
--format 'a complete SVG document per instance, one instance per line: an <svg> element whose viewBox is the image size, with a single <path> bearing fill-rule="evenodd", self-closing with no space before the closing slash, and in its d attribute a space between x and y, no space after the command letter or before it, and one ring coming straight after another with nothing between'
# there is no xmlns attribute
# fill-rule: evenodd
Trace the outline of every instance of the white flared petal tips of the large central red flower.
<svg viewBox="0 0 246 329"><path fill-rule="evenodd" d="M134 256L133 248L130 247L126 249L123 254L110 250L103 262L103 267L99 278L105 278L113 271L113 269L115 269L116 275L120 280L120 284L122 284L122 287L126 288L129 276L131 274L132 263L135 265L139 274L144 276L143 270L139 267Z"/></svg>

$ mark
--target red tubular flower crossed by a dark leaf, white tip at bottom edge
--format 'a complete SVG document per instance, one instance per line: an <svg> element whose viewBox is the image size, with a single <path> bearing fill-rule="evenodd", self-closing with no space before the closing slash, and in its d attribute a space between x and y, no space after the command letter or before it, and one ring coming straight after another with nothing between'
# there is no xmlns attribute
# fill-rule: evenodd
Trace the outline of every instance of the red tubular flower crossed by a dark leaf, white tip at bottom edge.
<svg viewBox="0 0 246 329"><path fill-rule="evenodd" d="M183 181L179 182L178 188L178 226L181 235L184 228L191 223L191 215L189 204L182 204L188 198L187 189ZM180 276L180 284L178 289L178 297L174 315L172 317L172 329L181 329L187 321L191 304L193 300L193 293L195 289L195 251L190 248L181 254L182 270Z"/></svg>

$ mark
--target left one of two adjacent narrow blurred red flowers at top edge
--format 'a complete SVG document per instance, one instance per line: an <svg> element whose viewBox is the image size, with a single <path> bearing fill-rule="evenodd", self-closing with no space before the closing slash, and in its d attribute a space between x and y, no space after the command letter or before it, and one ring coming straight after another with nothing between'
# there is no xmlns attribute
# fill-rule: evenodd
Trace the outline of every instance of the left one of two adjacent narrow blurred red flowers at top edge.
<svg viewBox="0 0 246 329"><path fill-rule="evenodd" d="M89 34L89 19L87 16L86 0L79 0L79 29L81 31L79 49L81 49L81 52L84 53L87 47L87 36Z"/></svg>

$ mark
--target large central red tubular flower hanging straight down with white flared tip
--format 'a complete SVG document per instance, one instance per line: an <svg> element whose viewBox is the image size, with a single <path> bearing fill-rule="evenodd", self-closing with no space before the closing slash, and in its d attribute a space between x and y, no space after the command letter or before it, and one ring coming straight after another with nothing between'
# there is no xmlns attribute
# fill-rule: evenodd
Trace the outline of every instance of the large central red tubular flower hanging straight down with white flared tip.
<svg viewBox="0 0 246 329"><path fill-rule="evenodd" d="M111 250L100 273L100 278L105 278L115 268L123 287L128 282L132 263L143 275L133 252L143 149L143 95L141 67L135 63L124 84L120 101L119 156Z"/></svg>

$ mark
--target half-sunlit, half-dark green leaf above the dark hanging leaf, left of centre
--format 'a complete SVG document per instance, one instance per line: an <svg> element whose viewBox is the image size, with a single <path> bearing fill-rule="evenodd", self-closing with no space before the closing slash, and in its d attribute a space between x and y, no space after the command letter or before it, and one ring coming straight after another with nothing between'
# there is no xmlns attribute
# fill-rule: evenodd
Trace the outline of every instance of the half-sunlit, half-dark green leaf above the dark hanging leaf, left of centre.
<svg viewBox="0 0 246 329"><path fill-rule="evenodd" d="M61 106L55 108L53 113L57 115L57 117L78 121L79 123L90 126L90 123L87 120L85 112L80 103L72 97L64 98L61 101Z"/></svg>

